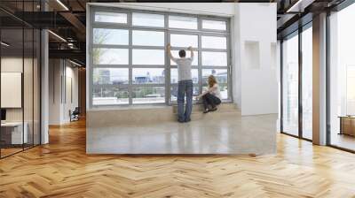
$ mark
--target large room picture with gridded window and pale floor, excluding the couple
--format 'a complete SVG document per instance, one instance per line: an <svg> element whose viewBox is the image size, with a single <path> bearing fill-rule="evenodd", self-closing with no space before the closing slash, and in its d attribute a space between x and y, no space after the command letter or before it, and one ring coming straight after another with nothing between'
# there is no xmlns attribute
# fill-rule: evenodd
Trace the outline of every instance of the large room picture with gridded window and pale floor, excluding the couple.
<svg viewBox="0 0 355 198"><path fill-rule="evenodd" d="M252 10L260 14L249 14ZM264 19L258 26L268 21L268 26L275 27L275 10L276 4L90 4L87 152L273 153L278 70L272 65L277 63L272 60L276 56L270 55L276 55L272 53L276 39L264 34L275 35L276 30L256 32L248 28L246 19ZM167 57L168 43L173 56L189 46L195 54L191 71L194 107L188 125L175 121L178 69ZM241 65L237 75L233 57L239 52L245 66ZM263 80L248 78L261 73ZM195 96L207 89L209 75L216 76L222 104L213 114L202 115L201 100ZM233 95L238 78L241 90ZM259 93L263 101L248 95L248 88L260 84L264 85L264 92ZM233 103L233 96L241 101Z"/></svg>

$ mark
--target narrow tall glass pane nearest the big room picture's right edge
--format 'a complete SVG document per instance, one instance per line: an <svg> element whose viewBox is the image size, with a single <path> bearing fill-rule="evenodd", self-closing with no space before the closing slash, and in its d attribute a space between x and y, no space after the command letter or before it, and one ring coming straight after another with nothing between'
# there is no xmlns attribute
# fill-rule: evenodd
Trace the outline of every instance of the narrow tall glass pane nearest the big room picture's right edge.
<svg viewBox="0 0 355 198"><path fill-rule="evenodd" d="M298 36L283 42L283 132L298 135Z"/></svg>

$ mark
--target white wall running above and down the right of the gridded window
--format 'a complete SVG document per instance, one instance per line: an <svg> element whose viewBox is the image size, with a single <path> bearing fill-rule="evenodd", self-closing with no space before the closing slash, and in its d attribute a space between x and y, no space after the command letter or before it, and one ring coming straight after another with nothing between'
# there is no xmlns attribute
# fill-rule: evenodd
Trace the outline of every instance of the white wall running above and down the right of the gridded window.
<svg viewBox="0 0 355 198"><path fill-rule="evenodd" d="M172 11L231 18L233 53L233 101L242 115L278 113L279 88L271 45L276 44L276 4L235 3L117 3L92 5L127 7L151 11ZM89 10L89 9L88 9ZM87 17L89 17L89 12ZM88 20L89 21L89 20ZM89 26L87 27L89 28ZM90 36L90 34L87 34ZM259 69L249 69L244 42L258 42ZM276 49L275 49L276 50ZM88 54L89 51L88 51ZM276 52L274 53L276 54ZM255 57L255 54L248 54ZM276 58L276 57L275 57ZM90 67L90 65L88 65ZM89 70L88 70L89 71ZM89 79L89 78L88 78ZM90 85L88 83L88 85ZM87 87L87 100L90 92ZM90 110L89 103L87 109Z"/></svg>

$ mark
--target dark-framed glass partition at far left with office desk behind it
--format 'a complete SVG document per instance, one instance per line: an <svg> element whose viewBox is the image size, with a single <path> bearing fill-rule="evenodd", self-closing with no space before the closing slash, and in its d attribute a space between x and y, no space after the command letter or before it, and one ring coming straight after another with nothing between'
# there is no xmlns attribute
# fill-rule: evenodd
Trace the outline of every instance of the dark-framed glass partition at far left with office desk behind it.
<svg viewBox="0 0 355 198"><path fill-rule="evenodd" d="M35 9L34 2L22 6ZM35 27L0 12L1 158L40 144L40 36Z"/></svg>

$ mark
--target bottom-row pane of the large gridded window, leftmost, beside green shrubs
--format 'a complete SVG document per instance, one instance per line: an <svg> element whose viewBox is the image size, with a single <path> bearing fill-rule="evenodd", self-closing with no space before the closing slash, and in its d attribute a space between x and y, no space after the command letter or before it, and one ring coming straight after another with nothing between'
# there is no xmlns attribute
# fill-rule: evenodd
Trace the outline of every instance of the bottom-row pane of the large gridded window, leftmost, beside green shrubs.
<svg viewBox="0 0 355 198"><path fill-rule="evenodd" d="M92 104L128 104L129 95L128 88L119 88L116 85L94 85L92 89Z"/></svg>

